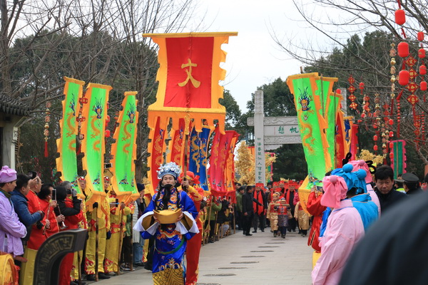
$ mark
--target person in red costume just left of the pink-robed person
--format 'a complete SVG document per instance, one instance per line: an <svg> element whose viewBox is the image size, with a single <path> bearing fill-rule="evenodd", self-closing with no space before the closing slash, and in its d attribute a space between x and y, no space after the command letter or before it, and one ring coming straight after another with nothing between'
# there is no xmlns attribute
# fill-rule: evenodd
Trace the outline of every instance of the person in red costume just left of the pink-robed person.
<svg viewBox="0 0 428 285"><path fill-rule="evenodd" d="M309 197L307 198L307 212L312 214L314 217L312 221L312 227L310 228L309 238L307 239L307 245L312 246L316 252L321 252L321 247L318 242L318 237L320 237L320 227L322 224L322 213L327 207L322 206L321 204L322 192L317 190L310 192Z"/></svg>

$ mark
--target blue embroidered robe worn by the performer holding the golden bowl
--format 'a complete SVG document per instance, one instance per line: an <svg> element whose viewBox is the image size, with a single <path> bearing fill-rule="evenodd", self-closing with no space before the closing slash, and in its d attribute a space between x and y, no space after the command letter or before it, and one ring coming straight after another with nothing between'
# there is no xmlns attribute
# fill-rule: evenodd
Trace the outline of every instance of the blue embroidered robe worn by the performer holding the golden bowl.
<svg viewBox="0 0 428 285"><path fill-rule="evenodd" d="M150 204L144 211L151 212L155 209L163 209L162 198L164 189L153 196ZM177 205L178 204L178 205ZM183 212L189 212L195 219L198 216L195 203L187 193L171 190L168 209L175 210L180 207ZM155 237L155 250L153 252L153 282L154 284L184 284L185 267L183 264L183 255L185 253L186 241L193 237L193 233L180 234L175 230L175 224L161 224ZM148 232L141 232L143 239L153 237Z"/></svg>

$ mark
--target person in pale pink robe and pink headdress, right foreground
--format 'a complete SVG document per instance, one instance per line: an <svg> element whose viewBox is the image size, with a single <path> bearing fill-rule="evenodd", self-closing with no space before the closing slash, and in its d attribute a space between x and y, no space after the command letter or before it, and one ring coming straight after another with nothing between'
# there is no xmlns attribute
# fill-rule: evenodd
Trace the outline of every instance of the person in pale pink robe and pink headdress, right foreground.
<svg viewBox="0 0 428 285"><path fill-rule="evenodd" d="M320 242L321 257L312 270L312 284L339 284L342 270L355 244L364 236L364 226L352 201L346 198L347 185L342 177L332 175L322 180L321 204L332 207L327 229Z"/></svg>

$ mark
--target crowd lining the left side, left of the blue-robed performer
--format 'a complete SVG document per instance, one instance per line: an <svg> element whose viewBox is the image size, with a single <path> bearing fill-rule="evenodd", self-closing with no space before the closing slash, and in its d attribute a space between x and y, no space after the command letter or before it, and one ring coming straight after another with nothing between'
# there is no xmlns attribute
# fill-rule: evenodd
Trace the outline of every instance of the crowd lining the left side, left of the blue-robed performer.
<svg viewBox="0 0 428 285"><path fill-rule="evenodd" d="M84 177L78 178L84 194L78 197L71 182L52 185L42 182L36 174L30 177L8 166L1 168L1 252L14 257L19 267L19 284L33 283L34 261L41 244L53 234L68 229L87 229L88 239L83 252L63 258L59 284L108 279L119 271L130 271L133 265L142 264L141 237L140 233L131 234L131 216L136 222L135 217L142 214L148 204L144 185L137 185L140 197L136 202L119 204L108 176L104 182L106 199L88 204L93 193L86 190Z"/></svg>

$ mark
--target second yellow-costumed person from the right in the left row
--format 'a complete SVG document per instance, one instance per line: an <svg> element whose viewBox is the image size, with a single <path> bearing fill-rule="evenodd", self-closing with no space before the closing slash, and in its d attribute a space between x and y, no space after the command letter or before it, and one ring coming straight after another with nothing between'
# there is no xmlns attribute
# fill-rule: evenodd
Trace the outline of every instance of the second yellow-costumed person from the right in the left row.
<svg viewBox="0 0 428 285"><path fill-rule="evenodd" d="M106 182L108 181L108 183ZM110 184L110 178L104 177L106 188ZM91 195L86 193L86 201L91 199ZM88 207L88 205L86 205ZM88 221L88 240L86 241L85 271L88 281L95 281L95 246L96 246L96 224L98 223L98 278L109 279L110 276L104 274L104 256L106 254L106 237L110 230L110 204L107 199L102 199L98 207L93 208L92 212L86 212Z"/></svg>

